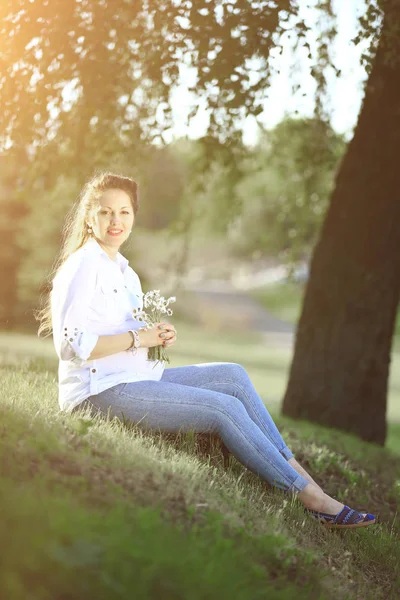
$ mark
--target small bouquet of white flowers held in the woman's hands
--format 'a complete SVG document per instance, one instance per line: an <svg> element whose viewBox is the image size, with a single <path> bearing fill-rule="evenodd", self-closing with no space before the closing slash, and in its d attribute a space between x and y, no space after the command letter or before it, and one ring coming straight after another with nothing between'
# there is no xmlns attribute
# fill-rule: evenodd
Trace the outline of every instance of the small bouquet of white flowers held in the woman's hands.
<svg viewBox="0 0 400 600"><path fill-rule="evenodd" d="M172 302L176 302L175 296L171 296L166 300L163 296L160 296L160 290L152 290L143 296L143 307L147 310L134 308L133 317L138 321L143 321L146 327L152 329L156 323L162 321L163 315L167 315L168 317L172 315L173 311L169 308ZM163 345L149 348L147 358L148 360L156 360L157 362L170 362Z"/></svg>

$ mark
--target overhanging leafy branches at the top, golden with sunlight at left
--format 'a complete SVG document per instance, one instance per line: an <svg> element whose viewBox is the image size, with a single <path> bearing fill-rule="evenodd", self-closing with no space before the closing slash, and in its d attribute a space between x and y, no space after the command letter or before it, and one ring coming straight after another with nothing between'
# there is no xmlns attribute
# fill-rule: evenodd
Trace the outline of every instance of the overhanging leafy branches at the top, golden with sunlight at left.
<svg viewBox="0 0 400 600"><path fill-rule="evenodd" d="M209 109L208 134L230 143L240 138L238 117L262 112L271 51L282 49L288 29L294 46L309 54L310 73L322 93L324 72L334 70L331 4L324 0L314 6L321 31L312 52L313 25L301 17L295 0L237 5L52 0L51 7L30 0L3 2L0 145L25 148L56 139L53 148L62 140L64 149L82 158L100 149L111 156L116 142L125 147L144 140L162 143L172 125L170 93L182 64L195 75L191 114L201 98ZM361 32L369 31L375 13L361 9Z"/></svg>

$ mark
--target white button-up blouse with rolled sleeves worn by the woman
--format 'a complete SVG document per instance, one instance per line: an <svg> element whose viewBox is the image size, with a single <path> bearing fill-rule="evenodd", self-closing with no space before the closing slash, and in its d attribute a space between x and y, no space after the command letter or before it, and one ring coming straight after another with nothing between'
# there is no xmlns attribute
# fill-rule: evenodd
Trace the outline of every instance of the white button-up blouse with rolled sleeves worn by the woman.
<svg viewBox="0 0 400 600"><path fill-rule="evenodd" d="M120 253L113 261L91 238L62 265L53 280L53 341L60 359L58 401L71 412L80 402L117 385L159 381L165 362L147 360L147 348L88 360L100 335L140 329L132 310L143 308L140 279Z"/></svg>

